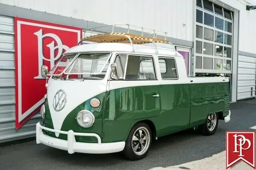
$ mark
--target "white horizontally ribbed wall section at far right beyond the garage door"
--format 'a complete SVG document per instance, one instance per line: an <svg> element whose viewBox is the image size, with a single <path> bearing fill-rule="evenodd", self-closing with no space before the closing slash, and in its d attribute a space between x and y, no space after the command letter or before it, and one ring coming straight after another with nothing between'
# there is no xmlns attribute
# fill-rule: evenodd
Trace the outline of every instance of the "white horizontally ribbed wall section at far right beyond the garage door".
<svg viewBox="0 0 256 170"><path fill-rule="evenodd" d="M256 97L256 57L238 56L237 100Z"/></svg>

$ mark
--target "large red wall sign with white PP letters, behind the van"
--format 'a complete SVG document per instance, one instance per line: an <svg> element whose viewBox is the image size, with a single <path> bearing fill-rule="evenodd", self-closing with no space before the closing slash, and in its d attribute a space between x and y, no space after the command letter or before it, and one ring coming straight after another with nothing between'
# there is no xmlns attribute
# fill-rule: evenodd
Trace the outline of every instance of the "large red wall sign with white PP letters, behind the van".
<svg viewBox="0 0 256 170"><path fill-rule="evenodd" d="M82 38L82 28L14 18L16 129L40 110L46 94L41 66L54 67Z"/></svg>

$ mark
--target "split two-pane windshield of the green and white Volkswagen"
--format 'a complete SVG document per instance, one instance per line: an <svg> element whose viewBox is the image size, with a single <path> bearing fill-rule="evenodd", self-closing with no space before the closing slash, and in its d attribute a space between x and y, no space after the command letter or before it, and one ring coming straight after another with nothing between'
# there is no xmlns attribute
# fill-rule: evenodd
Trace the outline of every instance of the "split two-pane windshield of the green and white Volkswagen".
<svg viewBox="0 0 256 170"><path fill-rule="evenodd" d="M69 75L69 79L104 79L108 69L110 53L88 53L64 56L54 66L52 75ZM72 61L72 63L70 63ZM63 75L61 77L63 77Z"/></svg>

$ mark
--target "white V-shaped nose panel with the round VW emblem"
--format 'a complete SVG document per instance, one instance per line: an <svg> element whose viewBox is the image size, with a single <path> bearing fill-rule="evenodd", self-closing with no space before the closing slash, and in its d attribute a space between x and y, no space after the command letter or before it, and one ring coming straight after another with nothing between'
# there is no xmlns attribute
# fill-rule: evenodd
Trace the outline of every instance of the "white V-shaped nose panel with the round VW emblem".
<svg viewBox="0 0 256 170"><path fill-rule="evenodd" d="M47 98L54 129L60 130L67 115L84 101L106 91L104 80L48 81ZM59 136L55 133L56 137Z"/></svg>

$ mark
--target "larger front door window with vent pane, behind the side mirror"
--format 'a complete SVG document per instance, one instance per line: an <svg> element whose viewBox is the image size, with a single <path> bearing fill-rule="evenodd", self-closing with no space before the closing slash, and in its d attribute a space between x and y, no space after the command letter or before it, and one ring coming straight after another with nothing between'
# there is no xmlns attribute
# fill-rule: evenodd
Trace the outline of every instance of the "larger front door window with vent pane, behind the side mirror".
<svg viewBox="0 0 256 170"><path fill-rule="evenodd" d="M153 57L119 55L115 63L118 67L118 76L124 78L125 74L125 80L156 80Z"/></svg>

